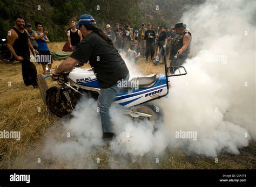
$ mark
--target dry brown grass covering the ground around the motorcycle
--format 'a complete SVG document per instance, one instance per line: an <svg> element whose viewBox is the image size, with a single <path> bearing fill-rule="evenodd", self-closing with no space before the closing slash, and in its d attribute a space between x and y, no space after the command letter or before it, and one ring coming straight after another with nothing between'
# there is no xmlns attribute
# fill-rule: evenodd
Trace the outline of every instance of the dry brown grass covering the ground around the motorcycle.
<svg viewBox="0 0 256 187"><path fill-rule="evenodd" d="M49 45L51 51L61 51L65 42L53 42ZM62 61L54 61L53 67ZM144 59L136 65L143 74L163 73L164 66L153 66ZM85 64L84 67L89 67ZM43 73L42 67L36 64L38 73ZM11 82L11 87L8 83ZM50 79L47 80L49 87L55 85ZM38 107L41 111L38 112ZM46 110L38 89L25 87L22 80L21 64L15 62L6 64L0 62L0 131L21 131L21 141L14 139L0 139L0 168L13 169L24 168L22 159L29 154L36 154L42 146L42 140L51 124L58 118ZM31 152L32 150L32 152ZM109 160L113 155L107 151L107 147L99 147L87 156L87 159L95 161L96 155L101 157L97 169L110 168ZM124 169L255 169L256 166L256 143L251 142L250 147L240 149L240 155L219 155L218 163L214 158L200 155L186 155L182 150L167 150L159 156L159 163L149 155L138 157L136 162L122 163L118 155L114 156L113 162L117 168ZM31 156L31 155L30 155ZM35 156L36 157L36 156ZM29 166L27 167L29 168ZM68 169L61 162L44 162L40 168Z"/></svg>

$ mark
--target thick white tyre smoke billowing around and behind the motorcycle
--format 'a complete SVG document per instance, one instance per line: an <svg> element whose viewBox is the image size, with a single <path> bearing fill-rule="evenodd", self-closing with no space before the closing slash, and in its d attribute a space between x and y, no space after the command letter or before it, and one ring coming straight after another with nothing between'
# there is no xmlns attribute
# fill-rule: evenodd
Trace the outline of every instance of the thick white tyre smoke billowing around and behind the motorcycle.
<svg viewBox="0 0 256 187"><path fill-rule="evenodd" d="M110 144L111 154L135 158L182 148L188 154L238 155L239 148L255 141L254 11L253 1L207 1L184 12L181 20L192 31L196 53L184 64L188 74L170 79L169 96L153 102L163 111L163 123L154 131L151 121L134 122L112 106L117 137ZM138 76L130 64L128 67L130 79ZM78 163L95 147L105 145L96 107L93 99L82 100L74 117L63 123L71 138L48 136L43 155L50 160L74 161L75 168L95 168ZM177 139L180 130L197 132L197 139Z"/></svg>

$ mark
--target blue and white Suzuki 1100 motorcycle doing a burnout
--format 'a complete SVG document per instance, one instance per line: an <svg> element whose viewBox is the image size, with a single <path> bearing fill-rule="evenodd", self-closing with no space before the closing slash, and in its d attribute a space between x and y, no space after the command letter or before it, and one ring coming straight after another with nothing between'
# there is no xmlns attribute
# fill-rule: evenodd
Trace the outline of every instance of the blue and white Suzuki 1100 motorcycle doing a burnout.
<svg viewBox="0 0 256 187"><path fill-rule="evenodd" d="M150 77L134 77L129 82L138 83L137 89L125 88L122 93L116 95L114 103L120 105L120 111L123 114L128 114L133 118L142 120L145 118L153 121L159 119L159 109L150 102L168 95L169 88L171 87L169 77L187 74L183 66L167 67L165 47L164 65L165 74L156 74ZM170 68L177 68L179 74L169 74ZM183 73L181 73L182 69L184 69ZM43 77L43 80L48 77L54 77L51 74L51 70L49 68L47 70L50 75ZM56 78L53 78L53 80L56 80ZM81 97L97 100L100 93L100 86L92 69L74 68L59 75L56 81L58 85L46 91L45 103L50 111L58 117L70 114Z"/></svg>

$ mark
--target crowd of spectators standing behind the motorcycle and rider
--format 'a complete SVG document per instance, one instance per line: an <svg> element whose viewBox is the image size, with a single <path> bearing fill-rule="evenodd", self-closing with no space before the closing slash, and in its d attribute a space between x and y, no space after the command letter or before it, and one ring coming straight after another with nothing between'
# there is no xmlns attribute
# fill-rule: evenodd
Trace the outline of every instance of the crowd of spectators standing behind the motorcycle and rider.
<svg viewBox="0 0 256 187"><path fill-rule="evenodd" d="M15 26L10 28L8 34L8 49L14 57L21 61L23 80L25 85L33 85L37 87L36 75L37 70L29 61L29 48L32 54L39 55L37 62L42 64L44 74L46 72L46 64L52 67L51 53L48 48L50 40L48 31L43 29L43 24L35 22L35 30L32 25L25 24L25 19L21 15L14 17ZM83 40L83 35L76 25L76 21L72 21L70 28L66 30L69 47L75 51L79 42ZM170 73L174 73L176 66L181 66L190 53L191 32L186 25L179 22L174 26L159 25L153 27L151 23L142 23L137 30L132 28L130 24L117 23L112 29L110 24L105 26L105 34L112 40L114 47L119 53L132 62L136 63L139 58L145 58L146 62L151 62L156 66L164 63L164 46L166 46L166 54L170 60ZM46 56L46 57L45 57Z"/></svg>

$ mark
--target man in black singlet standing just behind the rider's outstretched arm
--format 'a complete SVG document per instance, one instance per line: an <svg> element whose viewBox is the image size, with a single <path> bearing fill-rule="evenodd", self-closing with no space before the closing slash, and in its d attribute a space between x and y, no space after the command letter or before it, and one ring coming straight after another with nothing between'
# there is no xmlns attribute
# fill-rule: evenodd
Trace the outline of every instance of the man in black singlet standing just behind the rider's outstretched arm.
<svg viewBox="0 0 256 187"><path fill-rule="evenodd" d="M83 40L82 33L76 28L75 21L71 22L71 29L68 31L68 40L70 48L73 49L73 51L75 51L79 42Z"/></svg>

